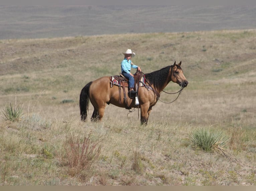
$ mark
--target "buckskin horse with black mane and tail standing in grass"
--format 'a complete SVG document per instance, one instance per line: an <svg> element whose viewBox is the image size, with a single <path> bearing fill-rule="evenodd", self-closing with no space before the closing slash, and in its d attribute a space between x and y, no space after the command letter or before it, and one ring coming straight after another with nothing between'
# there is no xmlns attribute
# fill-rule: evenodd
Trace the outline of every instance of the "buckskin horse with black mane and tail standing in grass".
<svg viewBox="0 0 256 191"><path fill-rule="evenodd" d="M145 83L143 87L138 88L139 105L137 106L141 110L141 124L147 124L150 111L159 99L160 92L163 91L170 81L177 83L182 89L188 85L188 81L184 77L180 65L181 62L176 64L175 61L173 65L143 75ZM125 89L126 94L127 92L128 88ZM129 107L135 108L135 99L127 97L125 104L123 93L122 88L119 89L118 86L110 86L109 76L89 82L81 90L80 94L79 105L81 120L87 120L89 100L94 107L91 117L92 121L100 121L104 115L105 107L110 103L118 107L126 107L128 105Z"/></svg>

